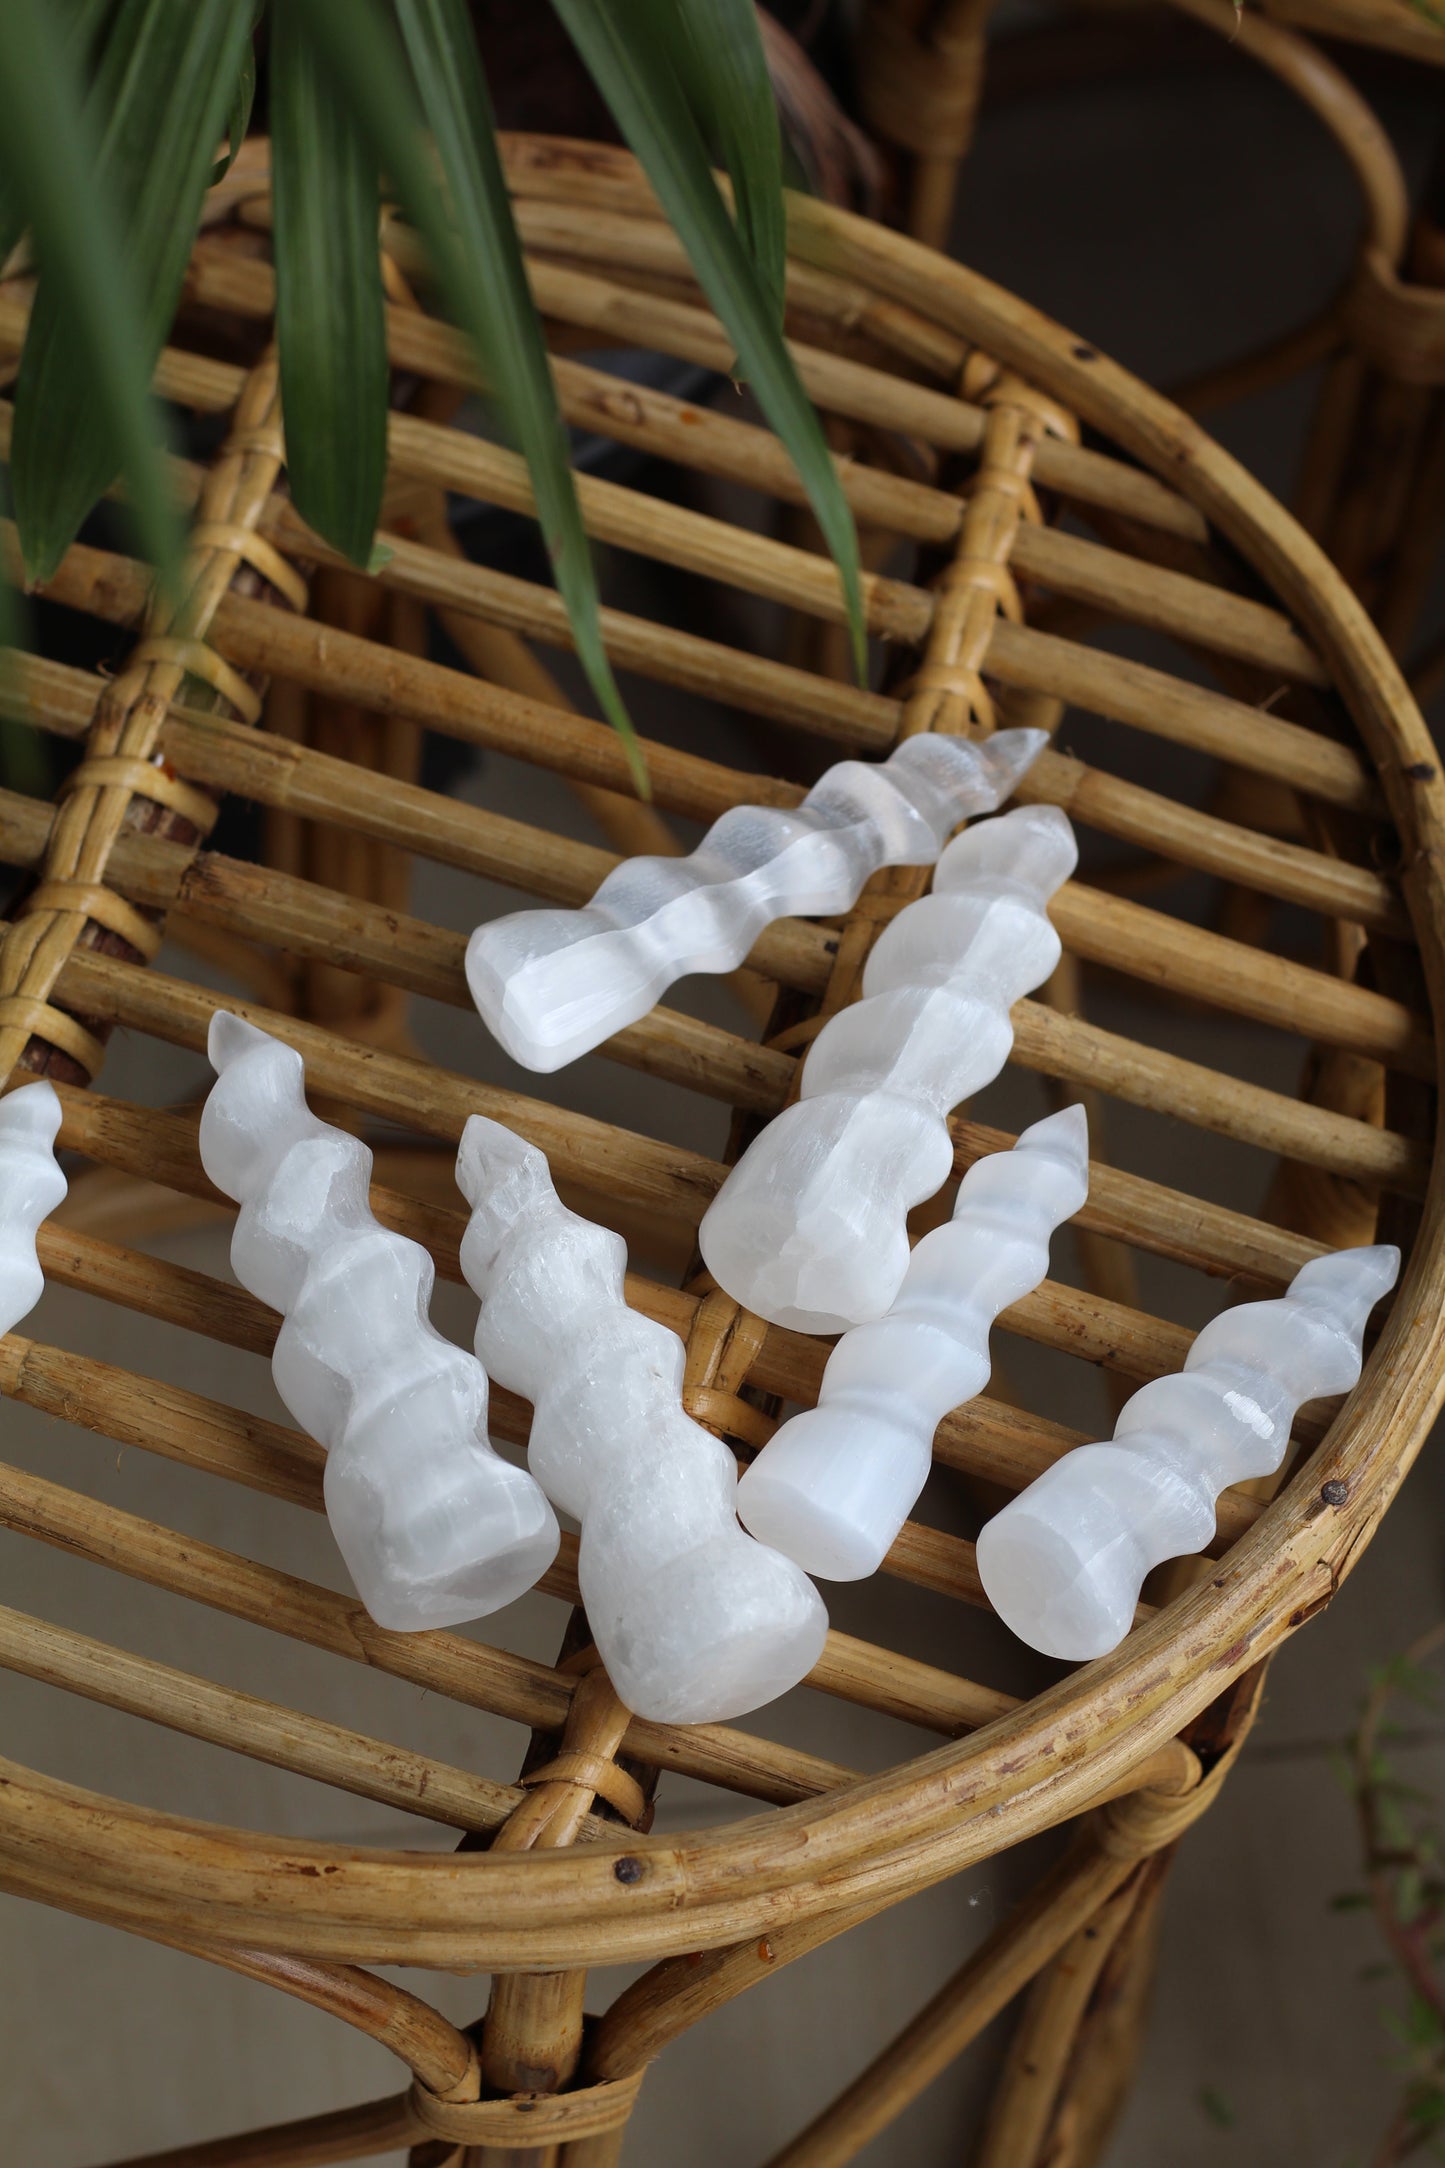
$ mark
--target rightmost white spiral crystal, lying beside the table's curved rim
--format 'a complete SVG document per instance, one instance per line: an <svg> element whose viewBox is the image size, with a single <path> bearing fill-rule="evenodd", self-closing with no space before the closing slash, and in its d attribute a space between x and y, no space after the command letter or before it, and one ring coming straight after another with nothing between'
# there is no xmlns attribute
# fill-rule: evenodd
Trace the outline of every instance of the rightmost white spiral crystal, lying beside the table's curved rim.
<svg viewBox="0 0 1445 2168"><path fill-rule="evenodd" d="M1304 1401L1356 1383L1397 1270L1389 1244L1341 1249L1278 1301L1207 1325L1181 1372L1135 1392L1111 1444L1066 1453L988 1522L979 1574L999 1617L1046 1656L1116 1648L1150 1567L1209 1541L1222 1489L1274 1474Z"/></svg>

